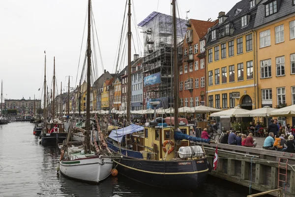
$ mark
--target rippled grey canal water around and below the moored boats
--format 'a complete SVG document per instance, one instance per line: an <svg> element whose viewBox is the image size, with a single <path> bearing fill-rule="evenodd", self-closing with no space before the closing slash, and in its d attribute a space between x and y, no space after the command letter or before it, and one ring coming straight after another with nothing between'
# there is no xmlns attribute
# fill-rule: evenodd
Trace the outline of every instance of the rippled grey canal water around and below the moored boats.
<svg viewBox="0 0 295 197"><path fill-rule="evenodd" d="M39 145L31 123L0 125L0 197L245 197L248 188L209 176L194 193L156 189L122 176L98 185L57 174L59 149Z"/></svg>

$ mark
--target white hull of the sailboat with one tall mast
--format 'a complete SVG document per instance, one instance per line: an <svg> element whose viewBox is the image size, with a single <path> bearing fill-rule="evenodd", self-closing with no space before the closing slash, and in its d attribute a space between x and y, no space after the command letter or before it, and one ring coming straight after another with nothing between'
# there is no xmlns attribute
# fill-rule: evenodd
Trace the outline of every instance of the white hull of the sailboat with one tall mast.
<svg viewBox="0 0 295 197"><path fill-rule="evenodd" d="M99 183L106 179L112 172L112 159L90 157L70 161L61 161L60 172L72 179Z"/></svg>

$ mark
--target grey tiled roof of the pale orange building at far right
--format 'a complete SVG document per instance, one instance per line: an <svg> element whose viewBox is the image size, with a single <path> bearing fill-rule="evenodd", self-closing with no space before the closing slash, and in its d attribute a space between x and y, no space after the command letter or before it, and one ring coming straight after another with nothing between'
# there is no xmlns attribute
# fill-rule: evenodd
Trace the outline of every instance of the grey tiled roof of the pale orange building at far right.
<svg viewBox="0 0 295 197"><path fill-rule="evenodd" d="M262 0L261 3L259 3L258 5L254 28L257 28L261 25L264 25L266 23L277 20L281 17L287 16L295 12L295 6L293 6L292 0L280 0L280 5L278 4L279 2L278 0L277 1L278 12L266 17L265 4L263 4L266 2L267 0Z"/></svg>

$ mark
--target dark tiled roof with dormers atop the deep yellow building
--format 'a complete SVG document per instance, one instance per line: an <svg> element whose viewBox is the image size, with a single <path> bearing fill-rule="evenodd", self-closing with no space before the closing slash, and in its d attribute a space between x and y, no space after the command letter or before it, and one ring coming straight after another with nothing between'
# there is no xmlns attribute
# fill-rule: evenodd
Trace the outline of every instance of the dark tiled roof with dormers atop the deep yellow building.
<svg viewBox="0 0 295 197"><path fill-rule="evenodd" d="M239 10L238 14L235 14L235 11ZM218 42L218 33L216 33L217 39L211 40L212 36L212 31L213 30L221 30L222 28L225 27L226 24L230 24L230 29L233 29L233 32L231 36L240 34L242 32L249 31L254 28L254 23L255 23L255 17L256 17L256 11L257 11L257 5L253 8L250 9L250 2L249 0L241 0L236 3L234 7L226 14L228 18L224 20L223 23L221 24L216 24L213 28L211 28L211 31L207 34L208 39L207 39L207 45L213 44L215 42ZM250 20L248 21L248 25L245 27L241 27L241 17L249 14L250 15ZM217 32L217 31L216 31Z"/></svg>

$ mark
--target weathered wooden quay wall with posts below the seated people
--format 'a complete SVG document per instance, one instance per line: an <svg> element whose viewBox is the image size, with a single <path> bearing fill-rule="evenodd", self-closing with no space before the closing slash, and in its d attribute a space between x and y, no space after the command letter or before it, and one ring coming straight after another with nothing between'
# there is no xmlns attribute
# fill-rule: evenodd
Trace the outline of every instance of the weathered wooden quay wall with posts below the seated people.
<svg viewBox="0 0 295 197"><path fill-rule="evenodd" d="M216 144L204 144L204 148L208 162L213 165ZM288 159L287 165L282 158ZM217 169L210 174L261 192L286 186L286 197L295 197L295 153L219 143Z"/></svg>

